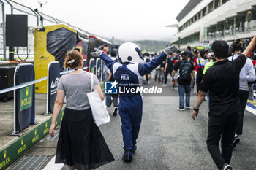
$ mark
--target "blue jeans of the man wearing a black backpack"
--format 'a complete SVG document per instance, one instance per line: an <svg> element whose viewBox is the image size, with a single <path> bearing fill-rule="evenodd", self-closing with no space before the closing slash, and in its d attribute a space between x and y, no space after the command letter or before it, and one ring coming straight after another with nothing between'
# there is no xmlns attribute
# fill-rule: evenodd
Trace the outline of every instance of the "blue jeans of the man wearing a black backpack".
<svg viewBox="0 0 256 170"><path fill-rule="evenodd" d="M178 84L179 108L184 109L184 94L186 93L186 107L190 107L190 85Z"/></svg>

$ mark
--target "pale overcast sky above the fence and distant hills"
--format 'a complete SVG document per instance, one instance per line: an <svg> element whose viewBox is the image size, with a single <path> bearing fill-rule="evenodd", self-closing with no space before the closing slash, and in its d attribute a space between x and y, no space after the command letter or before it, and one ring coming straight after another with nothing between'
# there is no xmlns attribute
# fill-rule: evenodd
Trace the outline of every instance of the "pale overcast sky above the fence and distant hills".
<svg viewBox="0 0 256 170"><path fill-rule="evenodd" d="M32 9L37 0L14 0ZM45 0L41 0L45 2ZM170 41L175 19L189 0L46 0L43 13L99 36L126 41Z"/></svg>

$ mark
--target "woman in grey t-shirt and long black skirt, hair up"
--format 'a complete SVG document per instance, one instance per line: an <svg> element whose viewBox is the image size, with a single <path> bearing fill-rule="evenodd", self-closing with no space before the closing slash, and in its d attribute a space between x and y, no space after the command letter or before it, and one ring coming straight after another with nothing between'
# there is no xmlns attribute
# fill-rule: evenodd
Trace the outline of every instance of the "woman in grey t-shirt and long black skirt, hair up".
<svg viewBox="0 0 256 170"><path fill-rule="evenodd" d="M67 98L67 105L61 123L55 163L64 163L69 170L96 169L110 163L114 158L92 117L86 95L91 91L91 74L83 71L83 55L77 50L67 53L64 67L74 70L60 78L57 88L50 136L54 136L64 96ZM93 89L104 98L95 75Z"/></svg>

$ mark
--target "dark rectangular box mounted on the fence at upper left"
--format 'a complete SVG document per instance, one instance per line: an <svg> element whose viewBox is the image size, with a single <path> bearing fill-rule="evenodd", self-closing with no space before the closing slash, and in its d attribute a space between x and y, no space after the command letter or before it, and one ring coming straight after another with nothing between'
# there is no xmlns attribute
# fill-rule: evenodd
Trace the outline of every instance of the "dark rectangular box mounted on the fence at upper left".
<svg viewBox="0 0 256 170"><path fill-rule="evenodd" d="M28 46L28 15L6 15L6 45Z"/></svg>

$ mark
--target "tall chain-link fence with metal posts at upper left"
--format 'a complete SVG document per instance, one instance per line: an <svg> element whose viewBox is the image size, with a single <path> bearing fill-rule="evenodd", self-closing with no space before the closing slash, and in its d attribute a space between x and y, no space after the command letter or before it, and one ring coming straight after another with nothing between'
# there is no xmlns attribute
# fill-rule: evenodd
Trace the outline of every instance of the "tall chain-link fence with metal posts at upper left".
<svg viewBox="0 0 256 170"><path fill-rule="evenodd" d="M9 2L10 4L8 4ZM34 59L34 28L37 26L41 26L40 16L43 18L43 25L55 25L55 24L66 24L75 30L78 31L78 34L83 38L88 37L89 32L84 31L76 26L72 26L69 23L64 22L63 20L59 20L50 15L43 14L39 12L37 9L31 9L30 7L26 7L23 4L19 4L15 1L9 0L4 1L0 0L0 61L4 60L4 32L3 32L3 20L5 20L5 15L11 14L11 9L13 9L13 14L23 14L28 15L28 48L27 47L15 47L15 59L28 58ZM4 15L3 15L4 14ZM4 16L4 18L3 18ZM9 47L5 47L6 49L6 58L9 57Z"/></svg>

